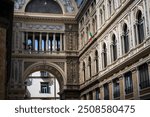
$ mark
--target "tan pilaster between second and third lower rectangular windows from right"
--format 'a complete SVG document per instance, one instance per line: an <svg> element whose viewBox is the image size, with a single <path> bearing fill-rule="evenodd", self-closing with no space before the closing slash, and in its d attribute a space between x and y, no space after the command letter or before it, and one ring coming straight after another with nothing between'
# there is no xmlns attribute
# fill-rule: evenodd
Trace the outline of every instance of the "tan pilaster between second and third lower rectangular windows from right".
<svg viewBox="0 0 150 117"><path fill-rule="evenodd" d="M120 86L120 99L125 99L125 89L124 89L124 83L123 83L123 75L119 76L119 86Z"/></svg>

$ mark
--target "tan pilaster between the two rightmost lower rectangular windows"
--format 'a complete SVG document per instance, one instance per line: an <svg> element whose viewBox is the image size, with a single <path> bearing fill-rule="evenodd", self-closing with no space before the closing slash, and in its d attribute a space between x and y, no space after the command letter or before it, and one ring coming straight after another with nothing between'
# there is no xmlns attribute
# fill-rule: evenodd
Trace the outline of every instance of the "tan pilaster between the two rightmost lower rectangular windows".
<svg viewBox="0 0 150 117"><path fill-rule="evenodd" d="M132 69L132 81L133 81L134 99L138 100L139 99L139 83L138 83L138 78L137 78L137 68Z"/></svg>

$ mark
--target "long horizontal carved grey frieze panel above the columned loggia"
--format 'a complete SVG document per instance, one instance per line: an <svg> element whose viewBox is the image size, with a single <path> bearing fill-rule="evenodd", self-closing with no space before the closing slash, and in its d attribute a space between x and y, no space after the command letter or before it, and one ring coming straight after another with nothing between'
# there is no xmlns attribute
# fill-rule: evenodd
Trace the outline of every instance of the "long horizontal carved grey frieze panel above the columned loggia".
<svg viewBox="0 0 150 117"><path fill-rule="evenodd" d="M16 29L29 29L29 30L54 30L54 31L64 31L65 26L63 25L48 25L48 24L22 24L15 23Z"/></svg>

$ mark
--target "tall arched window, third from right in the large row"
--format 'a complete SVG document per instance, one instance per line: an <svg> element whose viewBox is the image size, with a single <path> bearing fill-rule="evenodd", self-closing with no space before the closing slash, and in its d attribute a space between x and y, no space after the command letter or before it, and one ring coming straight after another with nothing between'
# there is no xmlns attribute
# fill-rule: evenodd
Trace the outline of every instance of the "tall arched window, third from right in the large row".
<svg viewBox="0 0 150 117"><path fill-rule="evenodd" d="M117 40L116 40L116 36L113 34L112 36L112 44L111 44L111 57L112 57L112 61L115 61L117 59Z"/></svg>

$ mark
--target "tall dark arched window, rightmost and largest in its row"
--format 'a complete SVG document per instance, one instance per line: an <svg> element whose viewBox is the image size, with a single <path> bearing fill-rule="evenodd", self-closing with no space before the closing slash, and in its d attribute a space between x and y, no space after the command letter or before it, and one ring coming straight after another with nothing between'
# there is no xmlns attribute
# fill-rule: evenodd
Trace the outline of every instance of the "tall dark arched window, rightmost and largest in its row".
<svg viewBox="0 0 150 117"><path fill-rule="evenodd" d="M142 43L144 40L144 19L142 12L139 11L137 14L137 30L138 30L138 43Z"/></svg>

